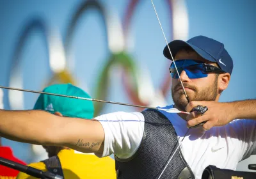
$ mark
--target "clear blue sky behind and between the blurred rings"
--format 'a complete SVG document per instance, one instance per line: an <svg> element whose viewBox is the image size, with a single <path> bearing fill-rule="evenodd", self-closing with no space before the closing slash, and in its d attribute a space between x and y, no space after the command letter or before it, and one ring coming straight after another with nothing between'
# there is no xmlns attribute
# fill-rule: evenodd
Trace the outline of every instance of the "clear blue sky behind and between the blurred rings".
<svg viewBox="0 0 256 179"><path fill-rule="evenodd" d="M102 1L108 10L116 12L120 19L128 1ZM68 20L74 13L76 6L81 3L74 1L0 1L0 84L8 85L8 70L12 59L15 42L24 24L33 17L42 17L50 27L60 30L62 38L67 31ZM168 24L168 12L165 1L155 2L157 12L163 23L168 39L171 39ZM189 38L196 35L205 35L215 38L225 44L225 48L234 59L234 70L228 89L221 95L221 101L242 100L255 98L255 29L256 29L256 1L227 0L227 1L186 1L189 15ZM165 46L161 29L150 1L141 1L132 18L132 35L134 47L130 50L134 61L145 66L150 71L154 87L159 88L163 70L168 65L163 57ZM84 15L76 28L72 40L72 51L75 64L72 74L77 77L79 86L90 94L96 77L108 57L105 36L97 13L91 11ZM24 70L24 88L39 90L44 82L51 77L47 64L47 49L41 34L33 33L26 42L22 52L22 68ZM120 78L113 77L110 83L109 100L130 102L123 92ZM37 95L24 93L25 108L31 109ZM170 98L171 96L168 95ZM6 98L5 98L6 102ZM172 99L168 99L172 103ZM104 113L112 111L133 111L133 108L108 105ZM15 154L24 160L28 155L22 155L11 141L6 144L15 146Z"/></svg>

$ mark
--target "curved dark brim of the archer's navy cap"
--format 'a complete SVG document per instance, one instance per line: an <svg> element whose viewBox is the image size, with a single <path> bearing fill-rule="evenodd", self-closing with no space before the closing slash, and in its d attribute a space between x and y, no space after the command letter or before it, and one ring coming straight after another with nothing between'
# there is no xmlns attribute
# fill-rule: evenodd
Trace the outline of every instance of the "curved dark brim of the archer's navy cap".
<svg viewBox="0 0 256 179"><path fill-rule="evenodd" d="M196 47L195 45L185 42L183 40L173 40L172 42L168 43L168 45L172 52L173 58L175 58L177 52L179 52L184 47L191 47L191 49L193 49L202 58L204 58L208 61L216 62L216 59L212 58L212 56L210 54L208 54L207 52L205 52L202 49ZM170 54L170 51L169 51L167 45L166 45L166 47L164 47L163 53L166 58L172 60L172 56Z"/></svg>

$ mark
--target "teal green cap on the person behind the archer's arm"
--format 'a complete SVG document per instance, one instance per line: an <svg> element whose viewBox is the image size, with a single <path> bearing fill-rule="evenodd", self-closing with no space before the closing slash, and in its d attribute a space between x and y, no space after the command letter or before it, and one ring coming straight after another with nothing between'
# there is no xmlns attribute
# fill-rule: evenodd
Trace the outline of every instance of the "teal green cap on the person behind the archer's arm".
<svg viewBox="0 0 256 179"><path fill-rule="evenodd" d="M58 95L68 95L75 97L91 98L83 89L72 84L54 84L48 86L43 92L55 93ZM63 116L73 118L93 118L93 102L77 98L57 97L53 95L40 94L34 109L48 111L50 113L60 112Z"/></svg>

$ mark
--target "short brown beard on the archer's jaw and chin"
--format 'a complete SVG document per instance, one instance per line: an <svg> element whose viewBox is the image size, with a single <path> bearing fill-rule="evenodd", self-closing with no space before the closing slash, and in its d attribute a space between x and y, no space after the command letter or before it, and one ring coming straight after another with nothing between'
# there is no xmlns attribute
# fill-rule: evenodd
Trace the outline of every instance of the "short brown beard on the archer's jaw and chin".
<svg viewBox="0 0 256 179"><path fill-rule="evenodd" d="M214 101L218 95L218 75L216 75L215 81L212 86L208 86L205 89L200 91L196 86L191 86L188 83L183 83L184 88L193 89L194 93L188 95L189 101ZM184 93L184 90L177 91L177 89L182 88L182 85L179 83L174 88L172 88L172 98L175 104L175 107L181 111L186 111L186 105L188 105L188 100Z"/></svg>

